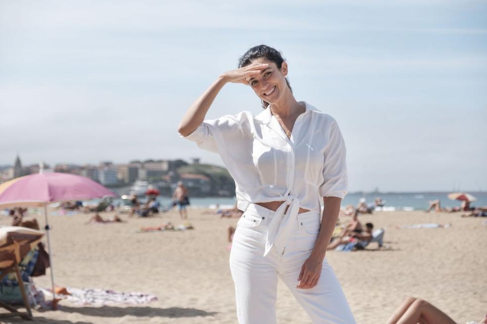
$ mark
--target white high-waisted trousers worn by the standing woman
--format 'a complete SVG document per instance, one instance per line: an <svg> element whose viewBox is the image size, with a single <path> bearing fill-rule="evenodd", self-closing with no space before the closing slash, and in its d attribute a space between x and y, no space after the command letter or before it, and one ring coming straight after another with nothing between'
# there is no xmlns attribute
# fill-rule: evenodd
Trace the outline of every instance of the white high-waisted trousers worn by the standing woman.
<svg viewBox="0 0 487 324"><path fill-rule="evenodd" d="M238 222L230 253L240 324L276 323L277 278L280 277L313 324L355 324L332 267L325 260L315 287L298 289L301 266L309 257L320 230L316 212L298 214L284 246L274 245L264 257L267 226L274 212L250 204Z"/></svg>

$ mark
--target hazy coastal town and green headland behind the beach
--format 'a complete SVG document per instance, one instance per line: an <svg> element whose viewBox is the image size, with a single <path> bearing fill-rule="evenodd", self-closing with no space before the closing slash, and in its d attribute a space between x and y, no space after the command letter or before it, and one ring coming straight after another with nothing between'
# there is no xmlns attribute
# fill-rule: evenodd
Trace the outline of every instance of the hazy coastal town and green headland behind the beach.
<svg viewBox="0 0 487 324"><path fill-rule="evenodd" d="M97 165L56 163L49 165L23 165L19 155L13 165L0 166L0 183L45 172L70 173L92 179L101 185L117 188L130 187L130 193L143 195L147 188L159 190L162 196L170 196L178 182L182 182L195 197L229 197L235 194L235 183L228 171L216 165L201 164L199 158L191 162L177 160L132 160L128 163L102 161Z"/></svg>

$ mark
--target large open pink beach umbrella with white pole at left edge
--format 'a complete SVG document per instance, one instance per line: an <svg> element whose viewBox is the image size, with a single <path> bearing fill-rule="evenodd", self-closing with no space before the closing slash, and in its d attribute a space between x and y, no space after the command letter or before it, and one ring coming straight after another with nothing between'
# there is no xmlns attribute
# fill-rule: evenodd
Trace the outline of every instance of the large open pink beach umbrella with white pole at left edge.
<svg viewBox="0 0 487 324"><path fill-rule="evenodd" d="M15 178L0 184L0 207L44 207L53 295L54 274L52 260L50 259L51 244L49 241L47 206L52 202L93 199L104 196L114 197L116 194L91 179L68 173L43 173L41 171L38 174Z"/></svg>

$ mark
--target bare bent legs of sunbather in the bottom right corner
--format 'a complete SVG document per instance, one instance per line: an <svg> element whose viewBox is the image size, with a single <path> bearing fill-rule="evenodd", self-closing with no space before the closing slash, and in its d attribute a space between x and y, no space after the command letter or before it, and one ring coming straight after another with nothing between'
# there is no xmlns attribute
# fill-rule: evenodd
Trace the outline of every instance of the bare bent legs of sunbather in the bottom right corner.
<svg viewBox="0 0 487 324"><path fill-rule="evenodd" d="M438 308L427 302L426 300L408 297L396 309L394 314L390 317L387 324L456 324L448 315L440 311ZM476 324L477 322L469 322L467 324ZM487 324L486 317L479 322L479 324Z"/></svg>

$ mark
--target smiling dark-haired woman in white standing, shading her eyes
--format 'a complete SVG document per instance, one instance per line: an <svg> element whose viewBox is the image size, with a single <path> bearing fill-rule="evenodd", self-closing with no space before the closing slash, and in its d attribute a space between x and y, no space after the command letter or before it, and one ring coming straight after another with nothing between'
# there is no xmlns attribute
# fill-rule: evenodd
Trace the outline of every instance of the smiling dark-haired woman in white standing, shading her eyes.
<svg viewBox="0 0 487 324"><path fill-rule="evenodd" d="M237 70L223 73L193 103L178 131L219 153L236 183L244 214L230 270L239 323L276 323L278 277L313 323L355 323L325 258L347 192L344 142L331 116L294 99L287 75L279 51L250 48ZM250 86L264 110L204 120L229 82Z"/></svg>

